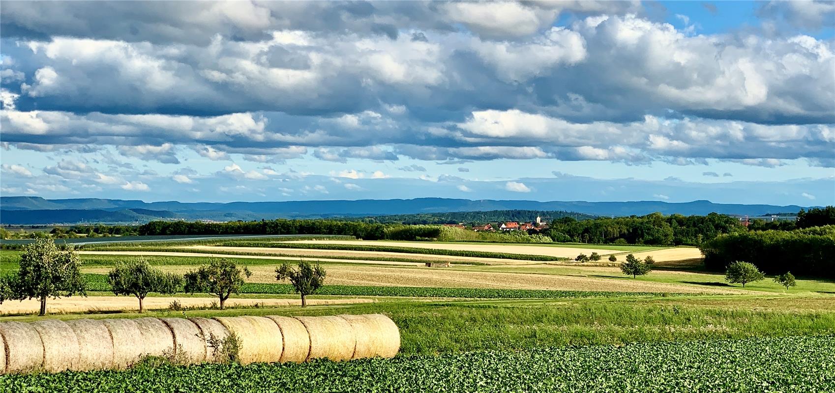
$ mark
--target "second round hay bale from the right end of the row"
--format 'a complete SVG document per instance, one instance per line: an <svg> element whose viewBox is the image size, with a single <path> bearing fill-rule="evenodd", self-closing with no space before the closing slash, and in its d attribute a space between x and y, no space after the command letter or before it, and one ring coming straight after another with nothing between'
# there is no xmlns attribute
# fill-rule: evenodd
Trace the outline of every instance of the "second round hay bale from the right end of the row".
<svg viewBox="0 0 835 393"><path fill-rule="evenodd" d="M338 316L296 316L311 337L307 359L350 360L357 346L354 331L347 320Z"/></svg>

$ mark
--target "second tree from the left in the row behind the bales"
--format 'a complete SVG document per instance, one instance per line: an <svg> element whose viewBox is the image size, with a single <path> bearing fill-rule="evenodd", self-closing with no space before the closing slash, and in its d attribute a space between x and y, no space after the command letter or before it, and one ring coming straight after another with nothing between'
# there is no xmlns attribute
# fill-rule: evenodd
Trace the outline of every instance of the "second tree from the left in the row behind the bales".
<svg viewBox="0 0 835 393"><path fill-rule="evenodd" d="M149 292L175 294L183 285L183 277L152 269L147 259L119 262L110 270L108 282L116 295L134 295L139 299L139 312L144 312L145 296Z"/></svg>

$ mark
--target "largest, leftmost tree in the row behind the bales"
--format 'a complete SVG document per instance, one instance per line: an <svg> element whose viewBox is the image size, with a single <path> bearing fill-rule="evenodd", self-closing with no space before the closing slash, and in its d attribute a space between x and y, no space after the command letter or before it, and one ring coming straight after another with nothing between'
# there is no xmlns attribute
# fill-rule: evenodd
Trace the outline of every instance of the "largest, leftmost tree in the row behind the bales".
<svg viewBox="0 0 835 393"><path fill-rule="evenodd" d="M81 261L72 247L59 251L51 239L37 239L23 246L18 275L11 278L14 299L38 299L38 315L46 315L47 298L87 295Z"/></svg>

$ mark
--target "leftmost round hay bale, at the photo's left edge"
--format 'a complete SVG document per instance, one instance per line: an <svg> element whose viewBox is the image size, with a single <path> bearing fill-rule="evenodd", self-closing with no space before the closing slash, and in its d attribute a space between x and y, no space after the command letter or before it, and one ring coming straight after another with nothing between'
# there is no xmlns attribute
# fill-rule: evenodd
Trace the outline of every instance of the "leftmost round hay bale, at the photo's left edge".
<svg viewBox="0 0 835 393"><path fill-rule="evenodd" d="M43 365L43 342L32 325L3 322L0 335L6 343L6 372L35 370Z"/></svg>

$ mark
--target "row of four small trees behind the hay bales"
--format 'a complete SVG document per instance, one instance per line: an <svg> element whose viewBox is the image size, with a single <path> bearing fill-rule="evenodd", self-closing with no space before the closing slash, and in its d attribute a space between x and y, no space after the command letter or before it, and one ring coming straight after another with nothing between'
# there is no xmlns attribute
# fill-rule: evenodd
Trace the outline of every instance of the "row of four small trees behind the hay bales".
<svg viewBox="0 0 835 393"><path fill-rule="evenodd" d="M164 273L154 269L146 259L119 262L108 275L110 290L115 295L133 295L139 300L139 312L144 311L144 299L149 293L176 294L205 293L218 297L220 310L230 295L240 293L245 277L252 273L229 259L212 259L184 275ZM319 265L301 261L297 268L284 264L276 268L276 280L289 280L301 295L302 307L306 296L324 284L326 272ZM38 239L23 247L20 268L14 275L0 277L0 304L6 300L40 301L38 315L46 315L47 300L62 296L87 295L87 282L81 274L81 262L72 248L60 250L52 240Z"/></svg>

